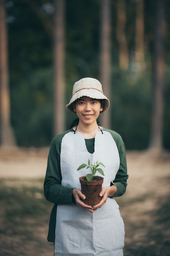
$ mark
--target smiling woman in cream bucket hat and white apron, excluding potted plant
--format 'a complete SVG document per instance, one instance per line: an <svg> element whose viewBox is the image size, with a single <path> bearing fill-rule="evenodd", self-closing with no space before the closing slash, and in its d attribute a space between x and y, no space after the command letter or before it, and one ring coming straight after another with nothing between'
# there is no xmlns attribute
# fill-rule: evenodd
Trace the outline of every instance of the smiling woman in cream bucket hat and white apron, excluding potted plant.
<svg viewBox="0 0 170 256"><path fill-rule="evenodd" d="M48 232L54 256L123 255L124 223L114 198L126 191L125 147L118 133L97 123L109 104L98 80L77 81L66 108L76 113L78 123L52 140L44 194L54 203ZM102 199L93 207L81 200L79 177L87 170L76 171L88 159L105 165Z"/></svg>

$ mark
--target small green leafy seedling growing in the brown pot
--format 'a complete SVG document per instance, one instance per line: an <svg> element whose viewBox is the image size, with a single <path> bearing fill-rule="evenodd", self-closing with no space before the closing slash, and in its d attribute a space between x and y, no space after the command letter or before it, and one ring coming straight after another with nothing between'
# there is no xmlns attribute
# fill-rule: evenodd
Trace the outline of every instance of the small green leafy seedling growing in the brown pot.
<svg viewBox="0 0 170 256"><path fill-rule="evenodd" d="M96 174L96 172L98 171L98 173L100 173L101 175L104 175L104 172L103 172L103 170L101 169L101 168L98 168L98 166L99 165L102 165L102 166L104 166L104 164L102 164L101 162L94 162L94 164L90 164L90 160L88 159L88 164L81 164L79 167L78 167L78 169L77 169L77 171L79 171L79 170L81 170L81 169L83 169L83 168L85 168L86 167L86 169L88 169L88 168L90 168L91 169L91 171L92 171L92 173L88 173L87 175L86 175L86 179L88 180L88 181L91 181L92 179L93 179L93 177L95 176L95 174ZM104 166L105 167L105 166Z"/></svg>

